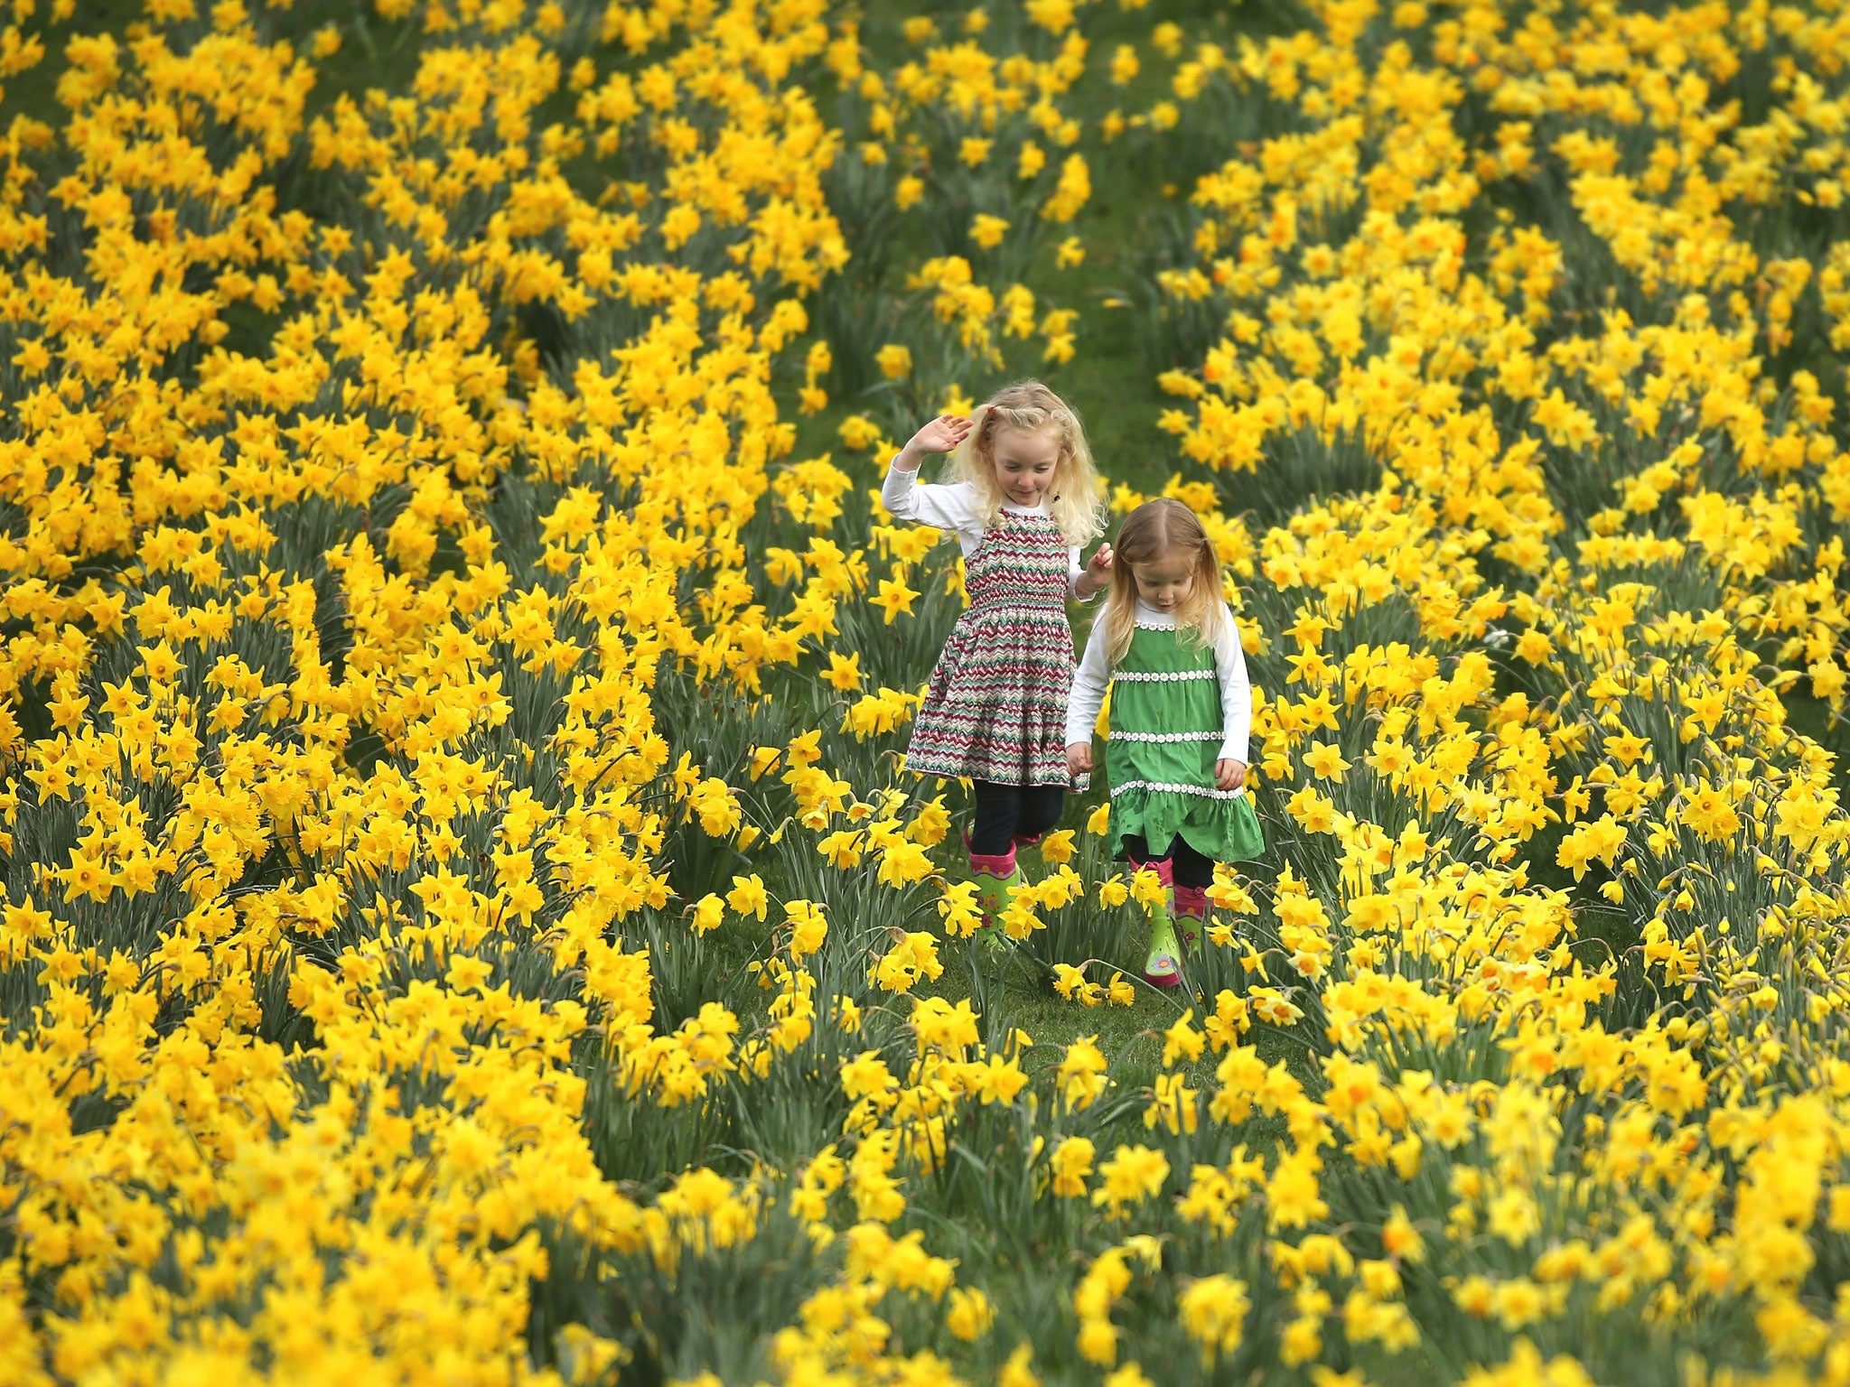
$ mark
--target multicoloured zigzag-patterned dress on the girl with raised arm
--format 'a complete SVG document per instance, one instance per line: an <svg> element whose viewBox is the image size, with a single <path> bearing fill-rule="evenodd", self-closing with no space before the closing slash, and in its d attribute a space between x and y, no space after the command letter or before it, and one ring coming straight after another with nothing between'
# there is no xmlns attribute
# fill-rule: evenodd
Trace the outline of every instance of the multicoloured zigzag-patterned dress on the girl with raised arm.
<svg viewBox="0 0 1850 1387"><path fill-rule="evenodd" d="M956 620L912 721L906 769L997 784L1067 784L1069 549L1053 518L1003 512L964 562Z"/></svg>

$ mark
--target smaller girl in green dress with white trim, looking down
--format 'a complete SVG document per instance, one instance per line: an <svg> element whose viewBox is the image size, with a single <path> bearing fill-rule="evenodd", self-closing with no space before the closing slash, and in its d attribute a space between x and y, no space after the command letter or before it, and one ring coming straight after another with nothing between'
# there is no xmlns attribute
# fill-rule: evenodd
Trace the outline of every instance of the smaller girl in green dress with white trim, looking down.
<svg viewBox="0 0 1850 1387"><path fill-rule="evenodd" d="M1104 769L1112 782L1112 854L1153 865L1173 910L1151 930L1143 976L1182 980L1182 938L1208 917L1215 862L1265 851L1245 795L1252 690L1221 564L1201 520L1180 501L1140 505L1117 533L1112 595L1086 640L1066 716L1066 762L1092 769L1092 729L1114 684Z"/></svg>

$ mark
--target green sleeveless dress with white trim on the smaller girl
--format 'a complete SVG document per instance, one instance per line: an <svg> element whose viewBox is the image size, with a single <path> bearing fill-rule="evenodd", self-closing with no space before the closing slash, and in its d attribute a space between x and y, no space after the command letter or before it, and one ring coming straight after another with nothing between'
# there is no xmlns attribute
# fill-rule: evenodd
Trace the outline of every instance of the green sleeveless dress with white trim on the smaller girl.
<svg viewBox="0 0 1850 1387"><path fill-rule="evenodd" d="M1112 780L1112 854L1136 834L1151 853L1182 836L1215 862L1265 853L1245 790L1217 790L1221 682L1214 649L1173 627L1138 627L1112 669L1104 769Z"/></svg>

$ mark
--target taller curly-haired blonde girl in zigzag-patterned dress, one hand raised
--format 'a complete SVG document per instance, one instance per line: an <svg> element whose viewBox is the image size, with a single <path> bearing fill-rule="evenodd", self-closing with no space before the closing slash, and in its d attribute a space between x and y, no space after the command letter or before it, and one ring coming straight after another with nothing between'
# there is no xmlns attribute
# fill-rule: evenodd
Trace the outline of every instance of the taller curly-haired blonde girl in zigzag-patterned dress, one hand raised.
<svg viewBox="0 0 1850 1387"><path fill-rule="evenodd" d="M916 485L927 453L953 451L945 486ZM1080 568L1101 529L1099 479L1079 416L1040 381L997 392L966 420L940 414L894 459L881 503L956 534L969 608L932 669L906 769L968 777L977 801L969 867L986 919L1019 880L1016 845L1060 821L1073 682L1067 597L1090 599L1110 546Z"/></svg>

